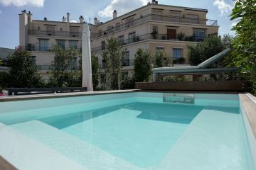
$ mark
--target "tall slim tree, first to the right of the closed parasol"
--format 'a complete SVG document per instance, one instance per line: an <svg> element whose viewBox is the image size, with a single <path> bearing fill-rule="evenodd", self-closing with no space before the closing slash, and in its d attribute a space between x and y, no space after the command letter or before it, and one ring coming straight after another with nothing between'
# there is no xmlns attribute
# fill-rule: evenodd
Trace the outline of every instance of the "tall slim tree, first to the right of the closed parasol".
<svg viewBox="0 0 256 170"><path fill-rule="evenodd" d="M103 52L103 62L107 69L107 86L110 89L120 89L122 59L125 49L117 38L110 38L106 43L106 50Z"/></svg>

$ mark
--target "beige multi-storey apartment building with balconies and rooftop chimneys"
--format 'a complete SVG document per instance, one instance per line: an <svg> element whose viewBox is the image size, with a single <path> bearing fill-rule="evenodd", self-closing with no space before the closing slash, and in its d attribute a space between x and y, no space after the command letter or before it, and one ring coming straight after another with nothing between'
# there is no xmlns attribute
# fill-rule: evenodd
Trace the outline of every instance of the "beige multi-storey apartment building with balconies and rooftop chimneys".
<svg viewBox="0 0 256 170"><path fill-rule="evenodd" d="M122 60L124 74L132 73L138 48L149 50L152 56L157 50L162 50L173 57L174 63L188 64L187 46L200 43L210 34L218 34L218 23L207 19L207 12L207 9L168 6L153 0L122 16L117 16L115 10L112 20L105 23L95 18L93 24L90 23L91 47L99 60L102 79L105 72L102 52L107 38L112 36L127 49ZM62 21L33 20L30 12L22 11L19 20L20 45L31 50L43 74L53 61L51 50L55 45L81 49L82 16L79 23L70 22L70 13L63 16Z"/></svg>

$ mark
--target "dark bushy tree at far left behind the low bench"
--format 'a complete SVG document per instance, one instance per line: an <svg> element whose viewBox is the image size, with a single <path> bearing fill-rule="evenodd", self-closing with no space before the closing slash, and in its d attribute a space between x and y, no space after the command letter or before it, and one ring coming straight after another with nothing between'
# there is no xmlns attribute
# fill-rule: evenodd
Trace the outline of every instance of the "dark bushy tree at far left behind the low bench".
<svg viewBox="0 0 256 170"><path fill-rule="evenodd" d="M31 52L17 47L14 54L7 57L9 73L5 74L8 87L41 87L45 82L38 71Z"/></svg>

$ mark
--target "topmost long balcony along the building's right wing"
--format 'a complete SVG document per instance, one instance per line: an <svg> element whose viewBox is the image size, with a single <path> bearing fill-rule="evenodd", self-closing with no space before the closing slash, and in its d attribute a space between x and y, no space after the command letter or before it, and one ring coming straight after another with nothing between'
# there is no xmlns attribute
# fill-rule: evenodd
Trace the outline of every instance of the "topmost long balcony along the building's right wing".
<svg viewBox="0 0 256 170"><path fill-rule="evenodd" d="M102 30L97 34L91 34L95 38L99 38L103 35L108 35L110 33L114 33L119 30L124 30L126 28L137 26L140 23L145 23L147 21L163 21L167 23L188 23L188 24L198 24L204 26L218 26L217 20L209 20L209 19L201 19L201 18L186 18L186 17L176 17L176 16L159 16L154 14L149 14L146 16L142 16L141 18L134 19L127 23L120 24L116 27L112 26L110 29Z"/></svg>

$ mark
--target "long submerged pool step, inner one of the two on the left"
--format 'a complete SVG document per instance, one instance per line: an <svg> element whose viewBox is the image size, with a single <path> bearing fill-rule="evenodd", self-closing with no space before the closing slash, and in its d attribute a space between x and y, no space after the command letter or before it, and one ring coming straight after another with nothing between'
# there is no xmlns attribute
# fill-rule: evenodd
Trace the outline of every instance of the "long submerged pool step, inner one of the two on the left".
<svg viewBox="0 0 256 170"><path fill-rule="evenodd" d="M139 169L123 159L38 120L9 125L9 127L55 149L88 169Z"/></svg>

